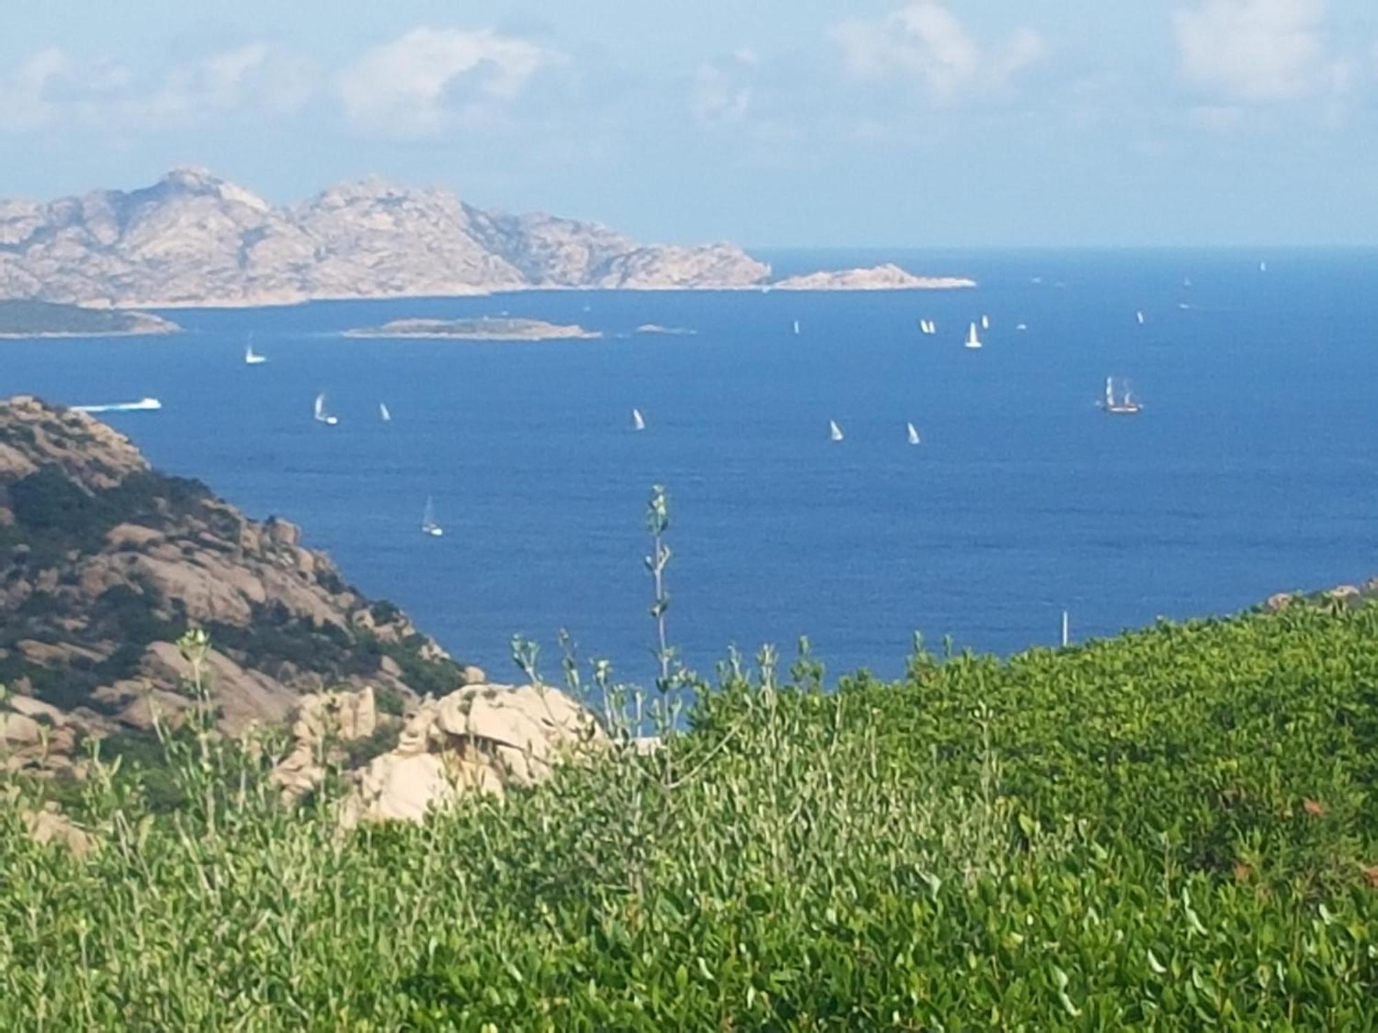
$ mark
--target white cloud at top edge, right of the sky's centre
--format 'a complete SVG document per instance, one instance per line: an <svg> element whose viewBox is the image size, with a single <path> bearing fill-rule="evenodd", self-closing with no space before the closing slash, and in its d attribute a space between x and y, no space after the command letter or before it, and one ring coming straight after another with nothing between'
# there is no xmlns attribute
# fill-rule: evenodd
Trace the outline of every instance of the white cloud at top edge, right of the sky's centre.
<svg viewBox="0 0 1378 1033"><path fill-rule="evenodd" d="M850 74L912 80L938 103L1003 90L1046 52L1043 37L1032 29L983 44L932 0L909 0L882 18L842 22L834 39Z"/></svg>

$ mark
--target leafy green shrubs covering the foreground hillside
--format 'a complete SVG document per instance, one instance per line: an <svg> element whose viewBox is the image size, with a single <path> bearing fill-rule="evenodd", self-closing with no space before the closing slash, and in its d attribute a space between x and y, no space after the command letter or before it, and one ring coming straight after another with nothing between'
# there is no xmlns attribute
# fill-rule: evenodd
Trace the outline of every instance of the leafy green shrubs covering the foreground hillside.
<svg viewBox="0 0 1378 1033"><path fill-rule="evenodd" d="M339 836L194 737L197 807L96 778L85 858L7 810L0 1027L1378 1025L1378 605L765 658L659 755L424 826Z"/></svg>

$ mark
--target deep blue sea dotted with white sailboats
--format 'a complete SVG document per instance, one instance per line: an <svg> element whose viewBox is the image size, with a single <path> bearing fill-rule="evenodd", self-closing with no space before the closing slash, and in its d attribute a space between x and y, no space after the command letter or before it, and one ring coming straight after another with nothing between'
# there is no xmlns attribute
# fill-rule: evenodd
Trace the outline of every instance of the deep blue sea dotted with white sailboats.
<svg viewBox="0 0 1378 1033"><path fill-rule="evenodd" d="M559 628L652 676L655 483L671 499L670 635L703 671L730 645L788 657L808 635L834 674L896 675L915 629L1011 653L1056 643L1064 609L1084 639L1378 573L1378 252L766 258L980 286L178 310L174 337L6 343L3 391L161 398L107 419L161 470L299 522L349 581L497 676L515 676L514 634L555 675ZM606 337L338 336L502 313ZM983 314L985 347L967 351ZM262 366L243 362L251 331ZM1112 375L1142 415L1096 408ZM336 427L311 420L321 390ZM444 537L420 533L427 496Z"/></svg>

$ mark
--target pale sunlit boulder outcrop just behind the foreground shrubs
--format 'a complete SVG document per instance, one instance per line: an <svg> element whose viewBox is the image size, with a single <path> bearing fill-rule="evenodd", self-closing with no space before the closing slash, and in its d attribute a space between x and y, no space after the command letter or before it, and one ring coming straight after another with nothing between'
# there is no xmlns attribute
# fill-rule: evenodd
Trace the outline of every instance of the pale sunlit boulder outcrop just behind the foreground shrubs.
<svg viewBox="0 0 1378 1033"><path fill-rule="evenodd" d="M466 686L424 701L397 748L358 771L342 822L420 821L466 792L533 785L561 759L605 742L593 715L558 689Z"/></svg>

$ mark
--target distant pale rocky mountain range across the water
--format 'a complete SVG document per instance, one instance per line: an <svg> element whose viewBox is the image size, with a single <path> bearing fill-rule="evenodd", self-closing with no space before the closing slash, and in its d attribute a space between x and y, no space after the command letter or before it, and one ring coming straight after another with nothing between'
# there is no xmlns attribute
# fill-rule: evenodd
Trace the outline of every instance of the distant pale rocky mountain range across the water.
<svg viewBox="0 0 1378 1033"><path fill-rule="evenodd" d="M0 299L284 304L522 288L741 288L732 244L639 245L597 223L503 215L444 189L365 179L276 208L204 169L56 201L0 201Z"/></svg>

